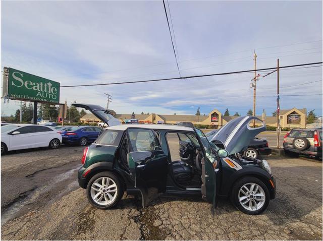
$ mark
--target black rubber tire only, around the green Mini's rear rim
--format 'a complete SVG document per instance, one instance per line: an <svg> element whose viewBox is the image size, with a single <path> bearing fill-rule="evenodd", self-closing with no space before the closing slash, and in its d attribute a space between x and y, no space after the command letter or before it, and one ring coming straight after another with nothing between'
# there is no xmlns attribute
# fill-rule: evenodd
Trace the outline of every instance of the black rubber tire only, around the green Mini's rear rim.
<svg viewBox="0 0 323 241"><path fill-rule="evenodd" d="M117 194L116 194L117 197L114 199L114 201L112 203L107 204L107 205L99 205L99 204L97 204L92 199L92 196L91 196L92 184L95 182L95 180L97 180L97 179L99 179L101 177L109 177L109 178L113 179L114 182L116 183L116 186L117 186ZM124 192L125 192L124 185L122 184L120 178L116 174L114 174L113 172L110 172L110 171L102 171L102 172L99 172L99 173L95 174L94 176L92 176L92 178L90 179L90 181L88 182L87 187L86 187L87 199L89 200L90 204L93 207L96 207L98 209L110 209L110 208L114 207L120 201L120 199L122 198Z"/></svg>

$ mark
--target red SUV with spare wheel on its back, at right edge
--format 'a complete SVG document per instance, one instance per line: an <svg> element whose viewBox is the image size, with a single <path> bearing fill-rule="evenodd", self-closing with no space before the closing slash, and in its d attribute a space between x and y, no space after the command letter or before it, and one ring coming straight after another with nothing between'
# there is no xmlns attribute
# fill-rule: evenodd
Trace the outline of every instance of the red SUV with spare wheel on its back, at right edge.
<svg viewBox="0 0 323 241"><path fill-rule="evenodd" d="M289 156L304 154L322 160L322 129L293 129L284 136L283 147Z"/></svg>

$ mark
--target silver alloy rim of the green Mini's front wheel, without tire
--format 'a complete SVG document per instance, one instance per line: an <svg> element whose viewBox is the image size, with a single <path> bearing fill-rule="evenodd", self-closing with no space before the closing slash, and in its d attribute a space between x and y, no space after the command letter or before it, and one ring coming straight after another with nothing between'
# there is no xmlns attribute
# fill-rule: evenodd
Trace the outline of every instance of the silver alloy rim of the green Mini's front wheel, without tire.
<svg viewBox="0 0 323 241"><path fill-rule="evenodd" d="M246 210L257 211L264 205L266 195L260 185L247 183L240 188L238 199L241 206Z"/></svg>

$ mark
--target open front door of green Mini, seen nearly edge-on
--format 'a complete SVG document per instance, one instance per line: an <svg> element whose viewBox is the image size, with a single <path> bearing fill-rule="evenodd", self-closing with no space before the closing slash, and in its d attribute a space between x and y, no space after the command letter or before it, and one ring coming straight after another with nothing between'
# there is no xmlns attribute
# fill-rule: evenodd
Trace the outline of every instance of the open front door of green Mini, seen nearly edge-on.
<svg viewBox="0 0 323 241"><path fill-rule="evenodd" d="M203 200L213 204L213 208L217 207L217 164L218 156L214 153L211 144L201 130L194 128L195 133L199 137L202 158L202 198Z"/></svg>

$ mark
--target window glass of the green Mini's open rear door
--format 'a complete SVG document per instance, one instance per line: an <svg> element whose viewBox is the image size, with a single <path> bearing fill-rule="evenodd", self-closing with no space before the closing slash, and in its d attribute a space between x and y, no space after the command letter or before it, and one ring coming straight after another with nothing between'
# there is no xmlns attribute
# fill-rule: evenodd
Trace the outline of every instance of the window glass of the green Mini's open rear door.
<svg viewBox="0 0 323 241"><path fill-rule="evenodd" d="M159 147L152 130L129 129L128 133L133 151L153 151Z"/></svg>

